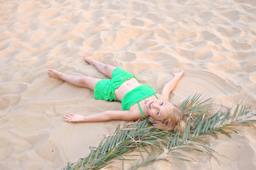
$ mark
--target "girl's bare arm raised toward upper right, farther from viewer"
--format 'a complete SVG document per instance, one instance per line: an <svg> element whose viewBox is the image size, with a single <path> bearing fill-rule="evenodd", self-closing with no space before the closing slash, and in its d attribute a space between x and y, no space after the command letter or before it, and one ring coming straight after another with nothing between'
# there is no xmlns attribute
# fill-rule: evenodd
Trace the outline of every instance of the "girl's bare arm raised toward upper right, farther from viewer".
<svg viewBox="0 0 256 170"><path fill-rule="evenodd" d="M178 81L181 79L183 73L184 73L184 70L182 70L181 72L175 73L174 78L164 85L164 88L161 91L161 95L164 96L164 99L166 101L169 101L169 95L171 94L171 91L174 90L175 86L178 84Z"/></svg>

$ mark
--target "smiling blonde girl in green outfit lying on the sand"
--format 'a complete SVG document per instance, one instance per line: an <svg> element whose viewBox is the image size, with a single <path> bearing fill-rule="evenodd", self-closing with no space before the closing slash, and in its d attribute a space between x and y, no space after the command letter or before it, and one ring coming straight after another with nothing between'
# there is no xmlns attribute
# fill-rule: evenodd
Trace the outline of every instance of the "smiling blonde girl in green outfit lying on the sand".
<svg viewBox="0 0 256 170"><path fill-rule="evenodd" d="M183 132L185 121L181 109L169 102L169 94L174 90L184 70L174 74L174 78L164 85L161 94L157 94L151 86L139 84L129 72L119 67L112 67L92 60L87 55L85 61L110 79L77 77L48 69L49 77L61 79L79 87L94 90L96 99L121 101L124 111L105 111L95 115L79 115L69 113L64 116L69 123L92 123L107 120L138 120L149 117L155 128L162 130L180 130Z"/></svg>

